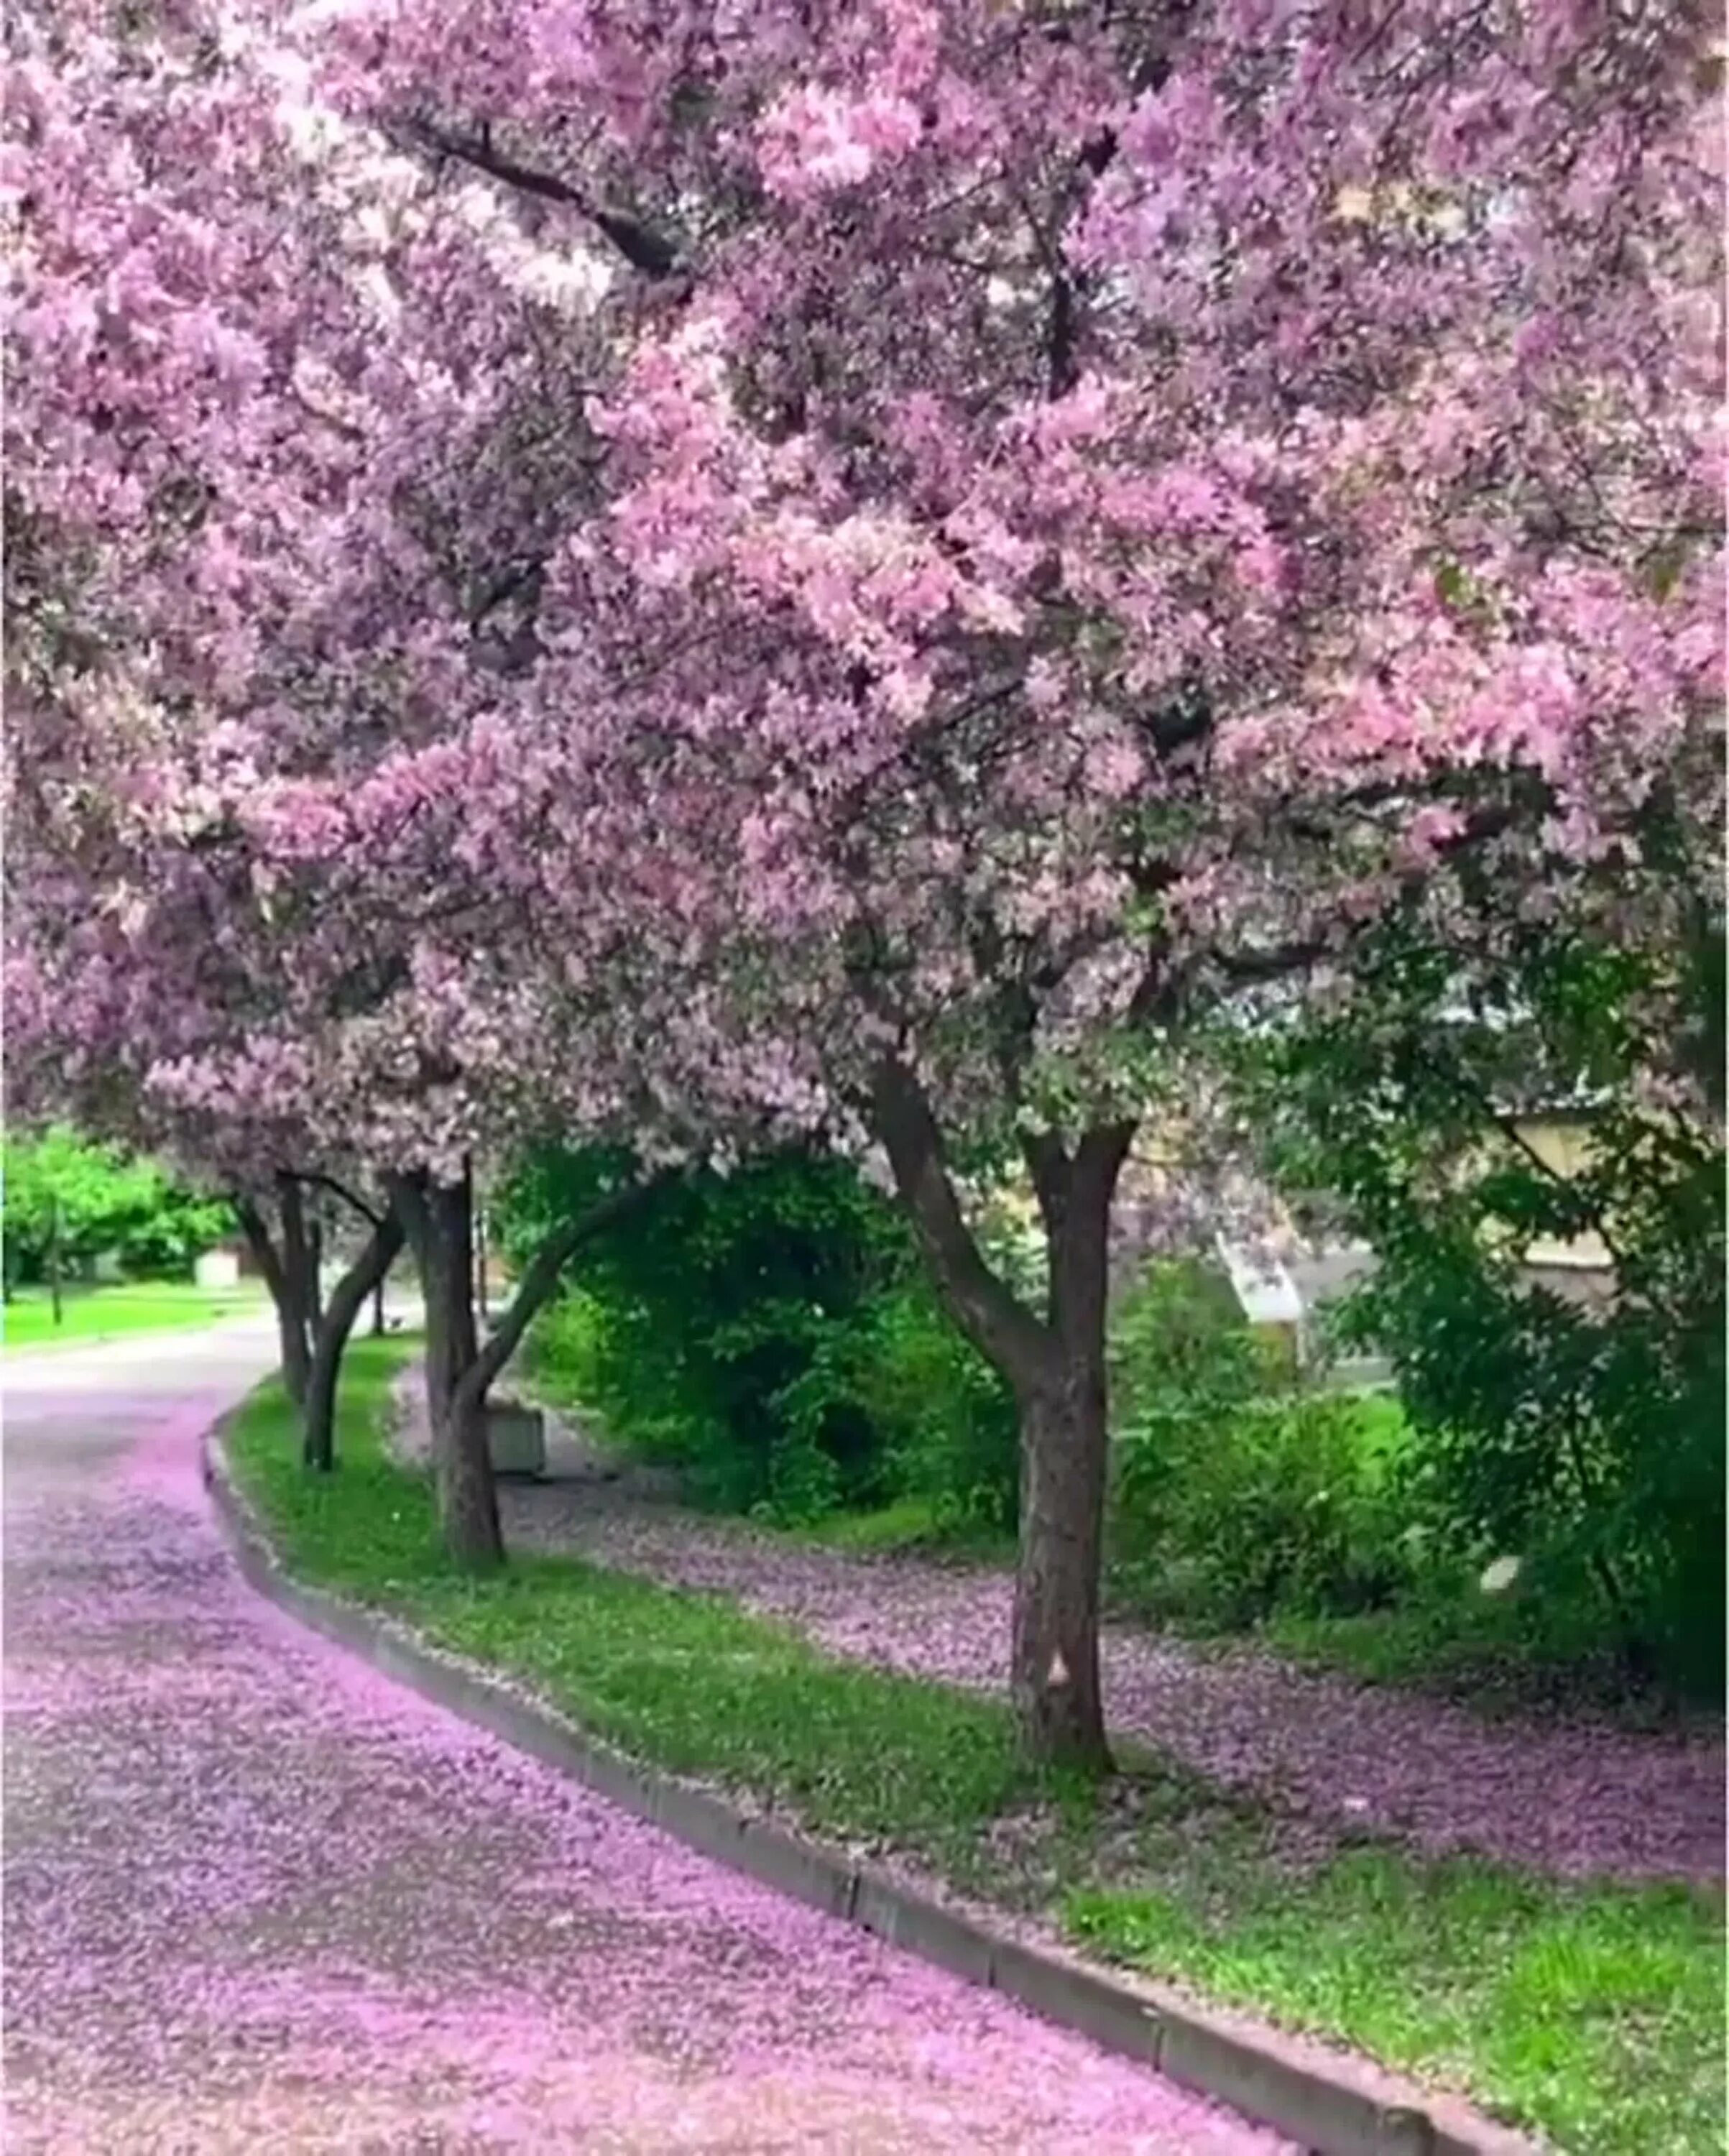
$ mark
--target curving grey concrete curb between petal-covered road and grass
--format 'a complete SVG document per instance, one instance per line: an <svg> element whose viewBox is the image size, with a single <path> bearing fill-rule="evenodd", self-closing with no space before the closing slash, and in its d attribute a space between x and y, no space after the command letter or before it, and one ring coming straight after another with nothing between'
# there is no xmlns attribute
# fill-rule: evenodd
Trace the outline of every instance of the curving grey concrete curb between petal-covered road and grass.
<svg viewBox="0 0 1729 2156"><path fill-rule="evenodd" d="M474 1664L427 1647L407 1628L289 1578L263 1524L235 1490L220 1423L205 1436L203 1451L205 1488L257 1593L397 1684L569 1774L686 1848L856 1923L968 1984L998 1990L1104 2050L1276 2128L1313 2156L1537 2156L1533 2141L1464 2102L1429 2096L1369 2061L1328 2053L1244 2016L1197 2007L1164 1986L1002 1938L841 1850L752 1820L709 1789L636 1766Z"/></svg>

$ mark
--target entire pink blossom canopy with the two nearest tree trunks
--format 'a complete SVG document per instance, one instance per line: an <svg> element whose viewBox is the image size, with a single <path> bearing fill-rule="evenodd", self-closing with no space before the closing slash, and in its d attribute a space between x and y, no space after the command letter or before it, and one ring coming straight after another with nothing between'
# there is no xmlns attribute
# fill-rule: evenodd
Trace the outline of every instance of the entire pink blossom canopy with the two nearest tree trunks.
<svg viewBox="0 0 1729 2156"><path fill-rule="evenodd" d="M1604 865L1714 817L1703 15L13 34L30 1089L369 1181L448 1287L474 1559L485 1384L582 1222L481 1345L468 1156L880 1147L1020 1404L1026 1740L1102 1757L1106 1231L1149 1112L1229 1201L1194 1026L1388 906L1444 929L1438 867L1626 908ZM981 1138L1043 1307L970 1233Z"/></svg>

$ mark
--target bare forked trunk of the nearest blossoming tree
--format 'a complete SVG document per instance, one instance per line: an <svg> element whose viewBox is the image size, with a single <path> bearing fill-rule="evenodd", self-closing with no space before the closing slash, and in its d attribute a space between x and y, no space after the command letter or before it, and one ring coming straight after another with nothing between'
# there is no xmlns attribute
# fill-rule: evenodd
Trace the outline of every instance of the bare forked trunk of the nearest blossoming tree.
<svg viewBox="0 0 1729 2156"><path fill-rule="evenodd" d="M1028 1311L992 1272L955 1197L942 1134L918 1080L886 1061L873 1121L901 1203L962 1330L1009 1382L1020 1410L1020 1550L1011 1686L1020 1742L1037 1761L1104 1770L1099 1559L1106 1488L1104 1317L1110 1199L1130 1123L1069 1151L1033 1138L1026 1158L1050 1242L1050 1302Z"/></svg>

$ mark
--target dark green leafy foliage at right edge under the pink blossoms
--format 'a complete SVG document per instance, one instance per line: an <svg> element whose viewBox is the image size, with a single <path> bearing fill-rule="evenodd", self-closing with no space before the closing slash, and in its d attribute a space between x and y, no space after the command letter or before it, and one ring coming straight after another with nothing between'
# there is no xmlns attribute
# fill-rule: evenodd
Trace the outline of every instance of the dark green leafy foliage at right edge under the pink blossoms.
<svg viewBox="0 0 1729 2156"><path fill-rule="evenodd" d="M1705 968L1710 972L1710 968ZM1373 1341L1421 1429L1412 1498L1462 1561L1595 1595L1628 1656L1723 1671L1723 1128L1651 1074L1710 1035L1699 968L1511 936L1468 968L1403 934L1343 1011L1265 1052L1291 1188L1332 1192L1378 1270L1341 1332ZM1442 1015L1444 1013L1444 1015ZM1557 1166L1533 1125L1565 1104ZM1533 1276L1597 1235L1615 1294Z"/></svg>

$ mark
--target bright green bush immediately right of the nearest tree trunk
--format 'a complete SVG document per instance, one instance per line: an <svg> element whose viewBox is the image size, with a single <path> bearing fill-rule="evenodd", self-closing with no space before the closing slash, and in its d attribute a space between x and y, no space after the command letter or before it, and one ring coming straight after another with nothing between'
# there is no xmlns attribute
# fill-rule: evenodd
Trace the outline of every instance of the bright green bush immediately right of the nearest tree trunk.
<svg viewBox="0 0 1729 2156"><path fill-rule="evenodd" d="M1294 1380L1225 1281L1156 1266L1112 1324L1110 1570L1160 1617L1352 1615L1412 1578L1397 1406Z"/></svg>

